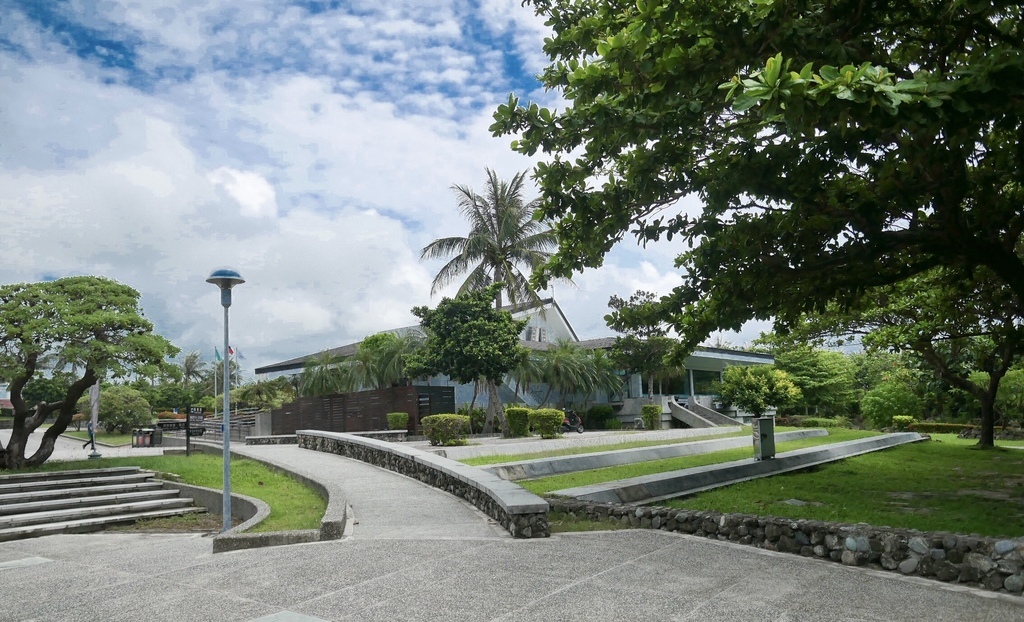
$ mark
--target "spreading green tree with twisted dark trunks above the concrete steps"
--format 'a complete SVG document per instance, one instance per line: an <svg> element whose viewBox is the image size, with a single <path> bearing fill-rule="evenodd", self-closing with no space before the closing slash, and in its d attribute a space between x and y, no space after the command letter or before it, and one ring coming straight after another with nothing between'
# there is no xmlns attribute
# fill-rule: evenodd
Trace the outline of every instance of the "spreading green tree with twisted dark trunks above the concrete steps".
<svg viewBox="0 0 1024 622"><path fill-rule="evenodd" d="M0 286L0 377L9 381L14 420L0 467L42 464L68 428L79 398L97 380L124 377L141 368L162 368L177 348L153 332L138 292L108 279L69 277L45 283ZM57 355L78 370L62 399L30 404L26 384L40 360ZM26 456L26 443L48 417L39 449Z"/></svg>

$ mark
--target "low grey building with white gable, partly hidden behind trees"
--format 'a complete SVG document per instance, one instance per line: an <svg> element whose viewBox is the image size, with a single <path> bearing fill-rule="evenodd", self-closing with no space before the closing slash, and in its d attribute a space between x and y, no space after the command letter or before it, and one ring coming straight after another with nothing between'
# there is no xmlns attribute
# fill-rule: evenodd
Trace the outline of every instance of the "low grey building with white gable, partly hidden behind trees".
<svg viewBox="0 0 1024 622"><path fill-rule="evenodd" d="M529 349L547 349L560 340L577 343L580 347L587 349L610 349L615 342L615 337L581 340L554 298L543 299L537 304L508 305L504 308L510 312L515 319L526 320L521 339L522 344ZM393 332L419 330L419 326L409 326L394 329ZM331 348L329 351L333 356L350 357L355 354L357 348L358 343L348 343ZM318 357L319 353L312 353L282 361L257 368L256 374L299 373L307 361ZM717 420L718 424L722 424L726 422L725 419L717 419L716 415L723 414L733 423L736 420L748 419L749 416L745 413L723 409L715 393L714 383L722 379L722 372L728 366L771 365L772 363L774 363L774 359L770 355L698 347L683 362L685 373L681 377L655 384L655 396L653 397L662 402L663 424L669 426L674 424L674 421L680 421L684 425L698 426L709 419ZM626 376L626 374L623 375ZM430 378L428 383L435 386L455 386L456 404L463 405L471 402L481 406L486 404L487 398L484 391L481 390L474 397L476 391L472 384L458 384L445 376ZM506 384L500 387L499 397L506 404L521 403L525 406L537 407L548 393L547 388L547 385L541 384L534 385L528 390L517 391L515 387ZM649 397L645 395L643 380L638 374L632 374L625 378L622 392L610 396L592 396L587 402L590 405L610 404L616 409L620 419L629 424L639 415L640 406L648 401ZM551 402L552 400L549 400L549 405Z"/></svg>

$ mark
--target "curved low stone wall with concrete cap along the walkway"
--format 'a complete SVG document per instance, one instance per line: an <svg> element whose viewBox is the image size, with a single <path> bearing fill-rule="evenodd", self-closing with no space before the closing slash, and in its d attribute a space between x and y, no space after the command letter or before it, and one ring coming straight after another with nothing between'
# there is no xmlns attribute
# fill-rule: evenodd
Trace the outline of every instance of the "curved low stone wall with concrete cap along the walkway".
<svg viewBox="0 0 1024 622"><path fill-rule="evenodd" d="M299 447L354 458L466 499L515 538L546 538L548 502L501 478L412 447L341 432L298 430Z"/></svg>

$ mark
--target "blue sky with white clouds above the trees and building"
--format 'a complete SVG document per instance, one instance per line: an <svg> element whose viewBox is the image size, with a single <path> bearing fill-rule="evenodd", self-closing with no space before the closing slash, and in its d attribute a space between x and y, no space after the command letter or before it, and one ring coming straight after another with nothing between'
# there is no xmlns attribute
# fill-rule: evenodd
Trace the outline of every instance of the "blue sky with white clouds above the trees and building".
<svg viewBox="0 0 1024 622"><path fill-rule="evenodd" d="M212 359L205 279L234 267L250 372L415 324L440 298L420 249L467 233L451 186L532 164L490 136L494 110L512 91L559 103L519 0L0 0L0 282L116 279ZM667 292L679 250L627 242L555 297L582 338L606 336L608 296Z"/></svg>

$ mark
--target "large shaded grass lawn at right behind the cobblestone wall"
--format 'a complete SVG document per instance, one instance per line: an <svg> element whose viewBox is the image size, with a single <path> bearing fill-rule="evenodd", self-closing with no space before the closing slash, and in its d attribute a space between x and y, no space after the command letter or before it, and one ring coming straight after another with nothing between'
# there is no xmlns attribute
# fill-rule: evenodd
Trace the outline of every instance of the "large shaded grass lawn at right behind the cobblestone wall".
<svg viewBox="0 0 1024 622"><path fill-rule="evenodd" d="M922 531L1024 536L1024 450L977 450L973 449L976 441L954 434L932 434L932 439L663 504ZM794 499L807 505L786 503Z"/></svg>

